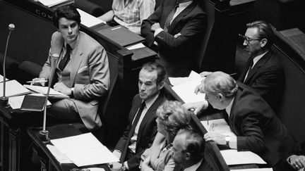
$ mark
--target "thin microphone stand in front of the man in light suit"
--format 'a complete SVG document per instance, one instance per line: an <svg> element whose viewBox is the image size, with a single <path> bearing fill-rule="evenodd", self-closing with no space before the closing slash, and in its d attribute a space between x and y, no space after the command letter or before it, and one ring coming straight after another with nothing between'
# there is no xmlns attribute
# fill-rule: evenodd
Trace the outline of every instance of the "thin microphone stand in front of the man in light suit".
<svg viewBox="0 0 305 171"><path fill-rule="evenodd" d="M49 143L50 139L49 139L49 131L46 130L46 120L47 120L47 101L49 99L49 91L51 89L51 84L53 82L53 77L55 74L55 69L56 69L56 61L59 58L59 54L54 53L52 55L52 66L51 66L51 75L49 77L49 83L48 83L48 89L47 89L47 94L46 94L46 98L44 101L44 115L43 115L43 124L42 124L42 130L40 131L40 137L42 139L42 142L44 144Z"/></svg>

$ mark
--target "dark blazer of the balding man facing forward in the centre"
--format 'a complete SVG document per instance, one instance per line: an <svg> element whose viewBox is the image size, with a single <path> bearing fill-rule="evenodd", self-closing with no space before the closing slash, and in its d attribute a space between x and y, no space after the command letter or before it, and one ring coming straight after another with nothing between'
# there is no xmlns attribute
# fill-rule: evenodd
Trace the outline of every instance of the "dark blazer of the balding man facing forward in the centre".
<svg viewBox="0 0 305 171"><path fill-rule="evenodd" d="M147 113L145 114L142 122L140 123L138 137L136 142L136 156L127 160L129 170L136 170L140 164L140 156L145 151L145 148L149 148L152 145L152 141L155 139L157 134L156 110L165 101L165 96L160 93L156 101L150 106ZM142 99L137 94L133 97L131 111L128 116L128 126L121 139L116 144L114 149L121 151L120 161L124 162L126 158L126 152L128 150L130 139L128 139L129 130L132 127L132 121L135 117L138 108L140 108Z"/></svg>

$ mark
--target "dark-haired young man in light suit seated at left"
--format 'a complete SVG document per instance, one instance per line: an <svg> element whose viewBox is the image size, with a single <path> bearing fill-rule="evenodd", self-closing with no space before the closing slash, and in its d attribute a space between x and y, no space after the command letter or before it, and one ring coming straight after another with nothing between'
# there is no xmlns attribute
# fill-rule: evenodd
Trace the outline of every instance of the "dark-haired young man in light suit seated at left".
<svg viewBox="0 0 305 171"><path fill-rule="evenodd" d="M110 81L107 53L95 39L79 31L80 14L75 7L57 8L54 25L58 32L52 35L49 58L40 77L32 82L49 80L52 56L59 52L54 89L70 98L54 101L47 114L61 122L82 121L88 129L97 129L102 125L97 113L99 99L107 93Z"/></svg>

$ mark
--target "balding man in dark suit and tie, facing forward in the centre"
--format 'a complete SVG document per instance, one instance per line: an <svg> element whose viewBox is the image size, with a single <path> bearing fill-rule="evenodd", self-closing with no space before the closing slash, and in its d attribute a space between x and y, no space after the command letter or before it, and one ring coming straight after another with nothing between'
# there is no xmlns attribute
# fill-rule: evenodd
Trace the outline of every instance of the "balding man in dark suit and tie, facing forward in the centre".
<svg viewBox="0 0 305 171"><path fill-rule="evenodd" d="M140 70L139 94L133 98L128 127L114 148L113 153L120 158L120 163L113 163L113 170L139 170L140 156L157 134L155 113L165 101L164 94L160 93L165 76L165 68L158 63L146 63ZM143 104L145 107L140 110Z"/></svg>

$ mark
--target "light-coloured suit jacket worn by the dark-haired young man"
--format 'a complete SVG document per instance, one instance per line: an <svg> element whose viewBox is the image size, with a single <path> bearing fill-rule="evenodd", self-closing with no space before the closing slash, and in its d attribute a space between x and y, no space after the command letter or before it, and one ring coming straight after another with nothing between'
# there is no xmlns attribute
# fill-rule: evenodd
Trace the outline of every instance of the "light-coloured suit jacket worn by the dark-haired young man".
<svg viewBox="0 0 305 171"><path fill-rule="evenodd" d="M100 115L97 114L99 98L107 93L110 82L107 52L84 32L80 32L76 41L71 60L63 71L59 69L59 61L64 57L61 51L56 72L61 72L59 82L67 87L74 87L74 97L71 100L75 103L84 125L88 129L97 129L102 125ZM40 77L47 80L51 75L51 49L40 72Z"/></svg>

